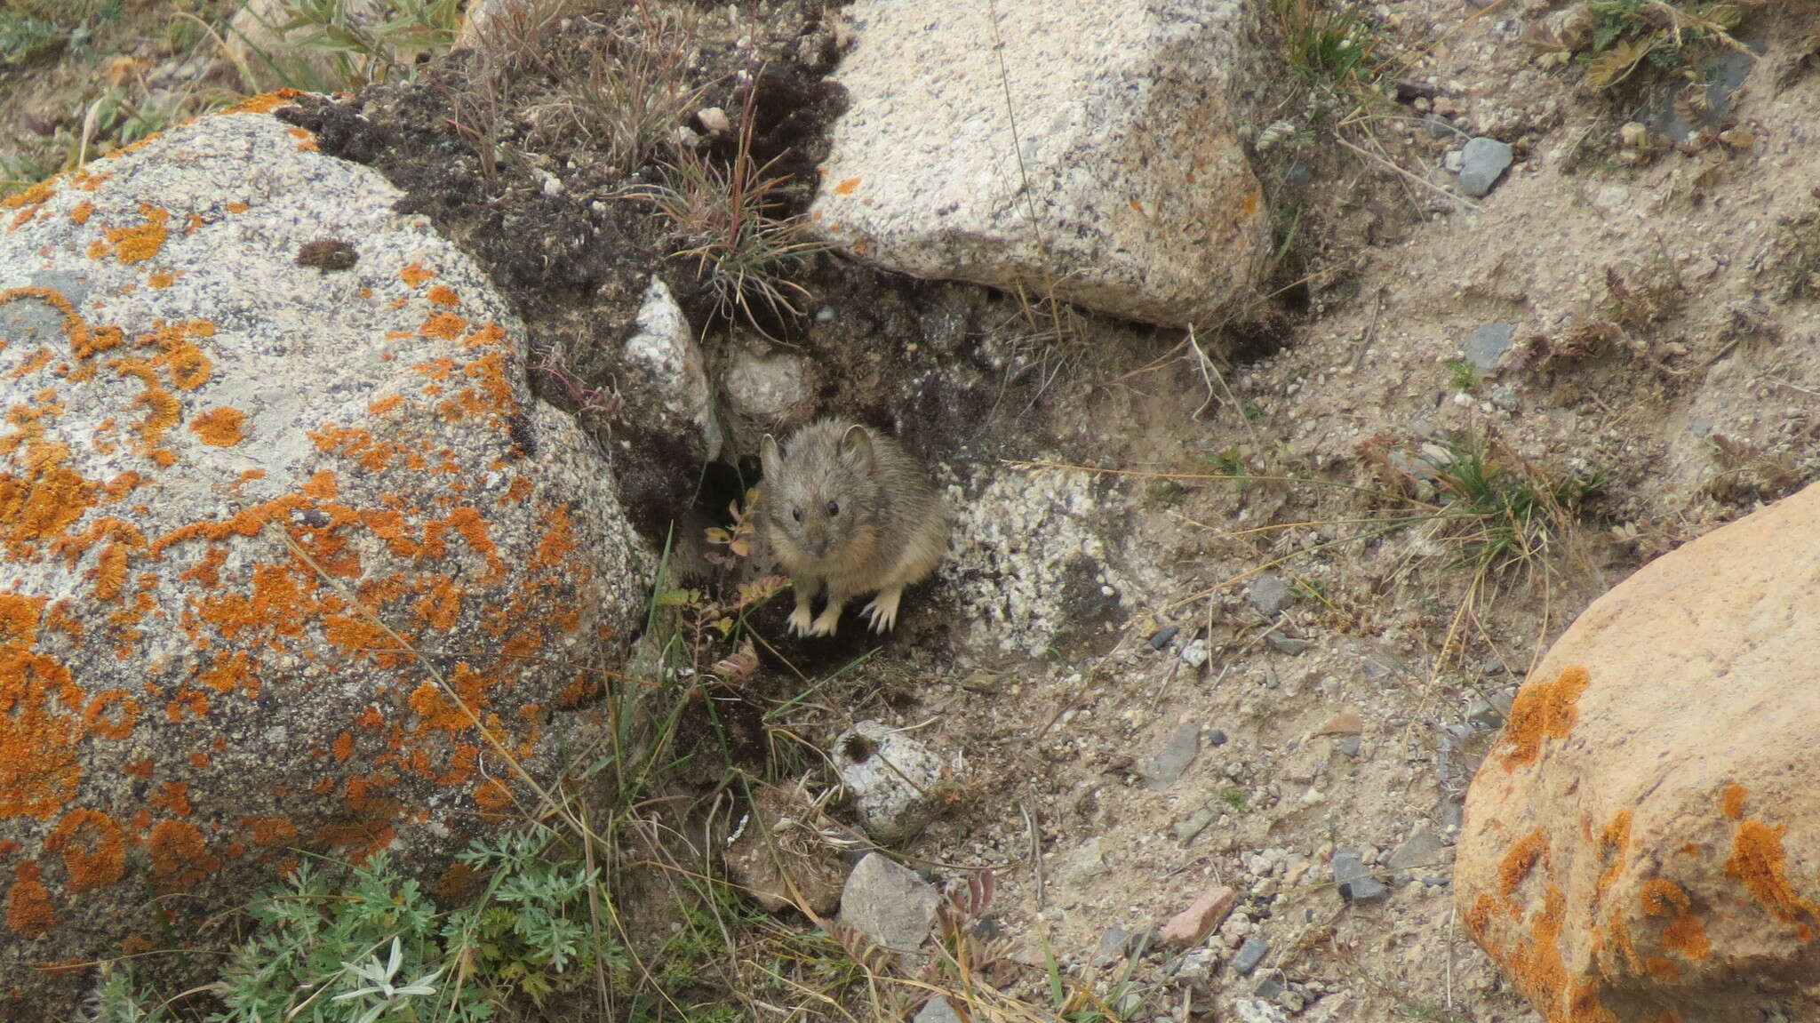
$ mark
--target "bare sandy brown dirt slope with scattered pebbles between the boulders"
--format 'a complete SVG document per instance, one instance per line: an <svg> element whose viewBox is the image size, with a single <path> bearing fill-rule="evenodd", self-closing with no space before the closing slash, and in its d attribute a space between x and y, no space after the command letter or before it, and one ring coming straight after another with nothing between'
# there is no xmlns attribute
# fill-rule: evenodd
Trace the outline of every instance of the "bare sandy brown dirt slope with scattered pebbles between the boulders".
<svg viewBox="0 0 1820 1023"><path fill-rule="evenodd" d="M686 264L664 262L648 211L622 202L650 166L602 167L584 133L524 113L561 98L548 73L515 75L495 96L499 137L531 153L497 167L450 127L477 109L460 106L475 95L464 56L297 116L470 244L528 322L539 393L584 410L622 451L646 439L590 397L612 388L597 339L622 333L642 280L670 266L712 357L770 344L755 333L770 329L817 366L821 408L903 435L965 499L1001 459L1092 481L1119 522L1107 590L1088 581L1085 603L1103 601L1048 652L1008 652L956 621L950 573L910 593L881 655L790 721L826 743L874 717L965 754L954 808L901 852L941 877L994 870L990 914L1019 963L1006 985L1037 998L1050 954L1105 979L1123 968L1094 961L1108 928L1158 927L1228 885L1239 901L1207 979L1190 983L1179 950L1152 948L1132 972L1147 1001L1130 1018L1232 1019L1239 999L1265 998L1298 1019L1531 1021L1454 916L1449 848L1372 905L1340 897L1334 850L1383 866L1418 832L1451 845L1496 735L1496 712L1476 701L1514 692L1580 610L1651 557L1820 468L1815 11L1756 13L1762 53L1707 135L1629 147L1622 126L1663 127L1671 86L1600 93L1578 66L1538 67L1522 33L1547 11L1372 5L1403 100L1336 126L1285 91L1274 116L1309 142L1259 169L1305 211L1296 273L1249 326L1194 339L1094 317L1045 339L1016 297L834 257L803 271L810 315L717 315ZM795 4L763 27L704 18L701 73L723 84L701 106L733 111L724 82L766 67L759 155L801 180L839 111L824 84L835 22ZM557 38L584 55L621 27L577 18ZM55 106L42 89L0 100L9 131L49 116L25 104ZM1516 162L1465 200L1441 167L1476 135L1512 144ZM804 200L788 193L779 213ZM1511 351L1494 370L1463 368L1485 324L1511 326ZM646 528L686 513L679 495L699 479L652 444L617 466ZM1512 479L1598 486L1543 508L1525 557L1481 570L1485 521L1441 512L1447 451L1458 464L1474 448ZM752 453L733 451L703 508L739 493ZM1279 613L1250 599L1259 577L1287 584ZM761 633L781 635L783 613L761 615ZM857 635L777 643L808 675L868 648ZM768 659L743 699L763 706L790 684ZM1183 726L1199 728L1198 755L1152 788L1145 761ZM1183 826L1201 810L1201 826ZM1223 963L1249 939L1269 952L1241 977Z"/></svg>

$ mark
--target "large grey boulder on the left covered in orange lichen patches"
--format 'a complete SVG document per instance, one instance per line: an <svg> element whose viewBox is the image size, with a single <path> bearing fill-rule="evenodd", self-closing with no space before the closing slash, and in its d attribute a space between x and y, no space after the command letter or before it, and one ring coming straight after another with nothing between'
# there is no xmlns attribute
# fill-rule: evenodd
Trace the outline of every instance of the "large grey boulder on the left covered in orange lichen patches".
<svg viewBox="0 0 1820 1023"><path fill-rule="evenodd" d="M446 863L642 606L500 299L286 98L0 204L0 1019L306 854Z"/></svg>

